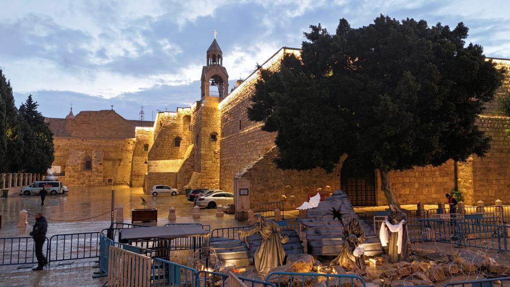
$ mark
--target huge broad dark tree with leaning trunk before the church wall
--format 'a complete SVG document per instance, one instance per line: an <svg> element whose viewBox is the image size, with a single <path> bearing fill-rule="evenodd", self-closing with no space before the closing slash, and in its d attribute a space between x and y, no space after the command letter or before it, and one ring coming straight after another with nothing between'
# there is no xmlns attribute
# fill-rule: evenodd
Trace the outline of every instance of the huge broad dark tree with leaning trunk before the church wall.
<svg viewBox="0 0 510 287"><path fill-rule="evenodd" d="M301 59L261 69L248 116L277 132L279 168L330 172L347 154L360 170L377 169L389 203L388 173L449 159L484 156L490 138L475 125L503 70L482 47L466 45L468 28L380 16L334 35L304 33Z"/></svg>

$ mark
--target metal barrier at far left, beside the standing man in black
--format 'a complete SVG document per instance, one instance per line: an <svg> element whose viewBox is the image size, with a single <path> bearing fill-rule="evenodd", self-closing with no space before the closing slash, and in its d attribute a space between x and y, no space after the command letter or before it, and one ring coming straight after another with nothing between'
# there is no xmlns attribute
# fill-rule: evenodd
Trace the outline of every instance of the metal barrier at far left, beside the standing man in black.
<svg viewBox="0 0 510 287"><path fill-rule="evenodd" d="M48 257L48 238L46 248L43 249ZM3 237L0 238L0 266L16 264L32 264L37 262L35 245L32 237Z"/></svg>

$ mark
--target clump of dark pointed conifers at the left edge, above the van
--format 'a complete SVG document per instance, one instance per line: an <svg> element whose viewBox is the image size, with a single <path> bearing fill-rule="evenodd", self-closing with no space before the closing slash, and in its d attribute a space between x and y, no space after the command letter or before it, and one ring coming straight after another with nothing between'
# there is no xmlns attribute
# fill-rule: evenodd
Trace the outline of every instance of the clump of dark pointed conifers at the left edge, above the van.
<svg viewBox="0 0 510 287"><path fill-rule="evenodd" d="M19 109L0 69L0 172L45 173L53 163L53 133L29 95Z"/></svg>

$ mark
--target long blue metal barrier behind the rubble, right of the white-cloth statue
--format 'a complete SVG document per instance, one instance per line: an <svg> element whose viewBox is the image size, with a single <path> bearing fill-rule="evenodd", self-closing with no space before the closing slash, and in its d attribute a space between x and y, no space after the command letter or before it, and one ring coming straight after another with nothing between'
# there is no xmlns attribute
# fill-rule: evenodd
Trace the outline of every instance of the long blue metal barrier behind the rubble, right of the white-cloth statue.
<svg viewBox="0 0 510 287"><path fill-rule="evenodd" d="M410 223L412 242L434 241L497 251L510 251L505 226L464 222L452 217L417 219Z"/></svg>

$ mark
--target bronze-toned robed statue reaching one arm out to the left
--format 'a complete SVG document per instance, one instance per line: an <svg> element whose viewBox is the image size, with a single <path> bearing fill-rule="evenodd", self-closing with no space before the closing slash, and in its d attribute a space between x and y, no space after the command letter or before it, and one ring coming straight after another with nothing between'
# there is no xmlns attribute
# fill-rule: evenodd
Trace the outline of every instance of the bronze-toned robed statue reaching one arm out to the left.
<svg viewBox="0 0 510 287"><path fill-rule="evenodd" d="M264 220L260 213L254 214L255 224L248 230L238 230L241 237L260 233L262 243L255 252L253 262L261 275L267 275L271 269L282 266L285 250L282 244L289 241L287 235L282 235L279 225L270 220Z"/></svg>

